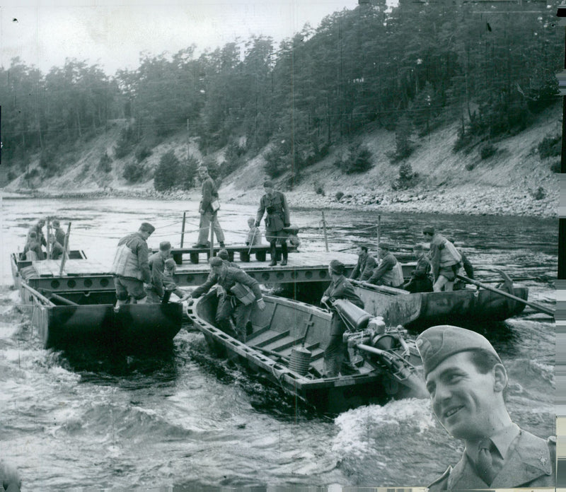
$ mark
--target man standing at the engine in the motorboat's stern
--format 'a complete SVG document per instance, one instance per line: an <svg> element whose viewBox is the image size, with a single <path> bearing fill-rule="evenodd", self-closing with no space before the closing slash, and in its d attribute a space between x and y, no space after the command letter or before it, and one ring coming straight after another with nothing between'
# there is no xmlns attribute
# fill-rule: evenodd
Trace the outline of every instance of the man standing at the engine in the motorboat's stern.
<svg viewBox="0 0 566 492"><path fill-rule="evenodd" d="M324 291L320 304L325 304L330 299L347 299L357 307L364 308L364 301L354 292L354 287L344 276L345 266L337 259L333 259L328 266L330 273L330 286ZM346 324L340 315L333 311L330 323L330 342L324 351L325 377L335 377L338 373L342 375L352 374L356 369L350 363L350 353L347 344L342 339L346 331Z"/></svg>

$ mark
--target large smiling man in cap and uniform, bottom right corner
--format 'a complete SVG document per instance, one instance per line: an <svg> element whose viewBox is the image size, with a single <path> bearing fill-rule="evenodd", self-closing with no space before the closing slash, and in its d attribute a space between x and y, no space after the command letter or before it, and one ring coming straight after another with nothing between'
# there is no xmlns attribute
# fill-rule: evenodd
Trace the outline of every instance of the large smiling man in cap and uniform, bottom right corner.
<svg viewBox="0 0 566 492"><path fill-rule="evenodd" d="M429 491L554 487L556 440L513 423L505 404L507 371L485 336L441 325L422 332L417 348L434 415L465 445L460 461Z"/></svg>

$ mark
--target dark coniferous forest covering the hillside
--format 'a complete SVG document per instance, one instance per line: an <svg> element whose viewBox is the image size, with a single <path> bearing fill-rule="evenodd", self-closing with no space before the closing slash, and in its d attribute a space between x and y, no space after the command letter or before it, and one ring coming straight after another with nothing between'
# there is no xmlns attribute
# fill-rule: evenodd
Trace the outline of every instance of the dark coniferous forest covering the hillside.
<svg viewBox="0 0 566 492"><path fill-rule="evenodd" d="M266 172L299 178L369 125L395 131L391 159L403 160L410 134L457 121L461 151L526 129L557 102L565 35L557 21L556 6L540 1L401 1L393 9L360 2L278 45L251 37L213 51L143 54L136 70L113 76L76 59L47 74L13 59L0 69L4 172L13 178L37 156L36 173L64 172L59 150L115 119L127 126L115 156L98 165L131 155L132 174L180 131L199 137L205 155L226 147L220 176L271 142ZM364 170L358 157L352 172ZM181 165L175 159L168 165Z"/></svg>

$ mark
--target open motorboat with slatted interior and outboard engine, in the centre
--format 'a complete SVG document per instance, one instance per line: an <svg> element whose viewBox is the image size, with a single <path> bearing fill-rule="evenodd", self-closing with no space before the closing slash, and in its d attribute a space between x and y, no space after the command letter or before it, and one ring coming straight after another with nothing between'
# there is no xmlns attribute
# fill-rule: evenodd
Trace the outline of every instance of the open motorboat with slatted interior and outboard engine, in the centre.
<svg viewBox="0 0 566 492"><path fill-rule="evenodd" d="M257 336L248 343L238 341L212 324L216 312L214 291L197 300L189 317L218 356L229 358L262 375L287 394L315 406L319 411L338 414L364 404L383 404L393 397L424 397L420 380L415 385L413 380L406 385L399 384L386 370L367 365L360 368L359 374L330 378L303 376L289 369L287 363L260 350L270 346L267 337L272 344L278 344L278 352L287 356L292 347L297 346L297 341L300 345L308 324L305 346L316 358L313 365L320 369L323 349L328 344L330 314L311 305L275 296L267 295L265 301L267 307L264 312L253 312L251 320Z"/></svg>

